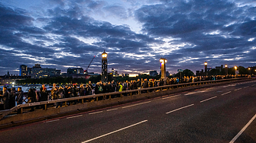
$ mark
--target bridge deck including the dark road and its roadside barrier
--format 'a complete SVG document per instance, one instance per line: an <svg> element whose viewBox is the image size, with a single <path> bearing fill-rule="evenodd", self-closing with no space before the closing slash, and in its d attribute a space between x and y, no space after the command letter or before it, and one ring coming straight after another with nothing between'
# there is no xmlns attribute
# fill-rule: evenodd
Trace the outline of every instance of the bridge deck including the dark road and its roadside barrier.
<svg viewBox="0 0 256 143"><path fill-rule="evenodd" d="M254 78L235 78L24 104L2 112L2 127L37 122L0 136L4 142L254 142L255 86ZM70 100L80 103L67 106ZM60 101L64 107L51 107ZM31 106L44 108L29 112Z"/></svg>

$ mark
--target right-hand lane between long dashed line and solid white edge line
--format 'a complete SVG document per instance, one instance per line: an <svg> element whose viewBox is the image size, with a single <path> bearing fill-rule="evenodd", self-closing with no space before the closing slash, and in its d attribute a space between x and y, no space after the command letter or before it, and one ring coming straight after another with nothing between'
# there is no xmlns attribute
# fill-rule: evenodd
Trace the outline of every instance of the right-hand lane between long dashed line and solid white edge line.
<svg viewBox="0 0 256 143"><path fill-rule="evenodd" d="M147 124L141 125L140 129L118 132L104 139L112 142L229 142L256 113L254 107L256 98L251 96L254 92L252 90L238 98L230 98L232 102L209 108L203 113L196 111L205 109L203 106L205 104L198 104L179 110L168 118L167 116L155 117L149 119ZM101 142L104 139L101 138L98 141ZM244 141L255 142L250 138L245 138Z"/></svg>

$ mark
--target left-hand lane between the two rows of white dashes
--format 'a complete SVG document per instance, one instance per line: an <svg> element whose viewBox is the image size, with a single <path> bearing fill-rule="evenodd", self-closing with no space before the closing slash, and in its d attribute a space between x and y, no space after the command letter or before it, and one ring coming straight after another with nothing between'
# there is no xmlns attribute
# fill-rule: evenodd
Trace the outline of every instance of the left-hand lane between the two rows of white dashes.
<svg viewBox="0 0 256 143"><path fill-rule="evenodd" d="M84 136L86 136L86 138L93 138L94 136L102 135L105 132L111 132L114 129L121 129L123 125L130 125L133 119L134 122L138 122L140 120L143 120L144 116L149 117L152 116L152 114L154 116L160 116L158 114L165 113L165 111L167 110L179 108L182 105L191 103L190 99L186 99L186 97L183 98L181 98L180 100L175 100L175 98L173 98L171 99L173 101L171 101L170 99L168 99L168 101L159 99L159 102L155 102L153 104L146 103L138 106L131 106L134 104L138 104L132 103L131 105L120 106L118 110L109 111L111 113L106 113L106 110L104 111L104 113L92 114L93 116L89 115L89 113L86 113L86 115L78 116L77 118L73 118L72 120L53 119L45 122L44 125L26 126L22 129L16 129L16 131L11 131L12 133L2 132L1 135L5 135L5 137L7 138L7 140L4 140L5 142L13 142L18 140L23 142L47 142L49 140L53 142L76 142L79 141L77 137L77 132L83 133L83 135L79 138L83 138ZM159 112L159 110L164 112ZM57 139L56 135L58 135L60 132L62 133L62 138ZM14 134L18 136L10 138ZM47 135L47 138L44 138L44 135ZM35 140L31 140L31 136L34 137Z"/></svg>

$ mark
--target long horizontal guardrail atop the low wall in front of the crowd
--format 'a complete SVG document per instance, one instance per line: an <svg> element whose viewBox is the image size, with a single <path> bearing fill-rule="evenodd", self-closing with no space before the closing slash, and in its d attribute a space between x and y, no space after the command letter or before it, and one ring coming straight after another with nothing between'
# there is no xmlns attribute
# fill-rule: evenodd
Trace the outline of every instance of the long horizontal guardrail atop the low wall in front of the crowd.
<svg viewBox="0 0 256 143"><path fill-rule="evenodd" d="M41 101L41 102L35 102L35 103L25 103L20 104L18 106L15 106L11 108L10 110L2 110L0 111L0 119L2 119L4 116L7 116L15 111L19 110L19 113L22 114L23 110L26 108L36 107L36 106L43 106L43 110L47 110L47 108L55 103L63 102L64 106L68 106L69 102L72 102L74 100L78 101L78 103L86 103L89 102L90 99L95 99L95 101L99 100L110 100L112 97L124 97L124 96L133 96L133 95L140 95L140 94L147 94L151 92L159 92L159 91L168 91L173 90L176 88L181 87L190 87L195 85L202 85L202 84L212 84L212 83L219 83L219 82L227 82L227 81L238 81L248 78L232 78L232 79L223 79L223 80L215 80L215 81L199 81L199 82L190 82L185 84L171 84L171 85L164 85L159 87L148 87L148 88L141 88L136 90L128 90L128 91L122 91L122 92L111 92L111 93L105 93L105 94L95 94L95 95L88 95L83 97L70 97L70 98L63 98L58 100L49 100L49 101ZM70 105L72 106L72 105ZM33 111L32 111L33 112Z"/></svg>

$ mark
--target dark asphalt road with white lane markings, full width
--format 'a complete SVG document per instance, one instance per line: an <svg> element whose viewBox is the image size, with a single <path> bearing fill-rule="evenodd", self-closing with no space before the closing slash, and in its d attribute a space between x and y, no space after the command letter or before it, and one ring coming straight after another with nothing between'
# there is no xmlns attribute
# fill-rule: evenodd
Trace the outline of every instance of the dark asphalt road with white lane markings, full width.
<svg viewBox="0 0 256 143"><path fill-rule="evenodd" d="M0 142L256 142L256 81L0 131Z"/></svg>

